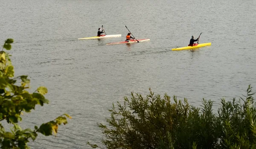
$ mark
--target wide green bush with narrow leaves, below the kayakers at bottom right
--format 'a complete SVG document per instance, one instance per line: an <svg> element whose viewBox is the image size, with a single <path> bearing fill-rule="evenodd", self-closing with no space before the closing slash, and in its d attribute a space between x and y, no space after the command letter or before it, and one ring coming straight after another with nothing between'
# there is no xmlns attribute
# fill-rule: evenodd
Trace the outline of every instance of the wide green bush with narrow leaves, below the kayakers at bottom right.
<svg viewBox="0 0 256 149"><path fill-rule="evenodd" d="M254 149L256 105L251 86L245 99L221 100L218 114L213 102L202 100L201 108L187 99L131 93L131 100L113 104L108 125L99 124L108 149ZM91 147L98 147L95 144Z"/></svg>

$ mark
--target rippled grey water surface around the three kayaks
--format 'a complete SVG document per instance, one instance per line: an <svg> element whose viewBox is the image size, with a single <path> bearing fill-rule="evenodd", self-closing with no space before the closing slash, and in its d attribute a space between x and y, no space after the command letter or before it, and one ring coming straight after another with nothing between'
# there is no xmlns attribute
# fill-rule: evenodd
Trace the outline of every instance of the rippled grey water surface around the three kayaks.
<svg viewBox="0 0 256 149"><path fill-rule="evenodd" d="M63 113L73 118L57 137L39 135L33 149L84 149L100 143L97 123L113 102L131 92L227 100L256 87L255 0L1 0L0 41L13 38L15 75L29 75L33 92L47 86L50 104L26 114L21 125L34 125ZM76 40L107 34L122 37ZM105 45L125 40L128 29L149 42ZM172 51L202 32L194 52ZM255 90L254 90L255 91Z"/></svg>

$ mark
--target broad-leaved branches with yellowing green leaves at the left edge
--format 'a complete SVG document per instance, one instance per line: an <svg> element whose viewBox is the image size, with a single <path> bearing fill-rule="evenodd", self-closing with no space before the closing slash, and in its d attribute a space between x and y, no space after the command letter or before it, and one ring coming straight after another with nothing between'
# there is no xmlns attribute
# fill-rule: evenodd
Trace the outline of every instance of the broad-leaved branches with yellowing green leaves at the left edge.
<svg viewBox="0 0 256 149"><path fill-rule="evenodd" d="M3 49L10 50L13 39L7 39ZM44 95L48 92L44 86L38 87L34 93L29 93L30 80L28 76L22 75L14 77L14 67L12 66L9 55L3 50L0 52L0 121L6 120L13 125L11 132L5 130L0 123L0 146L2 149L29 149L30 139L35 140L38 133L43 135L52 135L57 133L58 126L67 123L69 115L64 114L47 123L43 123L39 128L35 126L32 129L22 129L18 123L22 120L22 112L31 112L36 105L43 106L49 103ZM17 85L20 82L20 86Z"/></svg>

